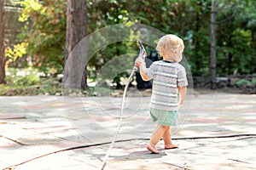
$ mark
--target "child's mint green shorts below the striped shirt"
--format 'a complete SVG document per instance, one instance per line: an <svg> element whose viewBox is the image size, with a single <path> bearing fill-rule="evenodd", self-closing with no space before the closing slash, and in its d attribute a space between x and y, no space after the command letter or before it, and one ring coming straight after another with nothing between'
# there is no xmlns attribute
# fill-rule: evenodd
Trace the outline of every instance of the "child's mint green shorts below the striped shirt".
<svg viewBox="0 0 256 170"><path fill-rule="evenodd" d="M150 109L150 116L154 122L164 126L177 125L177 111L161 111L157 109Z"/></svg>

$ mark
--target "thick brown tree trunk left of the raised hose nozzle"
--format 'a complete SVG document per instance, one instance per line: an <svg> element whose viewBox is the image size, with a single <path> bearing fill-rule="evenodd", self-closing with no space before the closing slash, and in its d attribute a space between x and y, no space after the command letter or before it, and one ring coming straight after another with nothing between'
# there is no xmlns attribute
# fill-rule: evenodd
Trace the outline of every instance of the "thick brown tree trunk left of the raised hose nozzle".
<svg viewBox="0 0 256 170"><path fill-rule="evenodd" d="M86 87L86 62L81 61L79 52L73 49L87 34L87 1L86 0L67 0L67 40L65 53L65 74L63 81L66 81L66 88ZM85 54L84 54L85 53ZM86 55L86 50L83 51ZM86 58L86 57L85 57ZM68 60L68 62L67 62ZM78 65L84 63L83 71ZM75 69L78 68L78 69ZM78 72L79 71L79 72ZM81 82L81 84L78 84Z"/></svg>

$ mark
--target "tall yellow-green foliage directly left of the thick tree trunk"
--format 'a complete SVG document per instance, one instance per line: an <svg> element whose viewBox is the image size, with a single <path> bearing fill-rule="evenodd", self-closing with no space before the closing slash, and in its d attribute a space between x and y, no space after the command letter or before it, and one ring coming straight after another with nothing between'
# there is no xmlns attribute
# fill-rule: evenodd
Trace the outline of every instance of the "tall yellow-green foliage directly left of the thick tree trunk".
<svg viewBox="0 0 256 170"><path fill-rule="evenodd" d="M26 42L27 54L33 66L40 71L63 71L66 39L66 1L35 0L15 1L24 8L20 22L24 22L19 37Z"/></svg>

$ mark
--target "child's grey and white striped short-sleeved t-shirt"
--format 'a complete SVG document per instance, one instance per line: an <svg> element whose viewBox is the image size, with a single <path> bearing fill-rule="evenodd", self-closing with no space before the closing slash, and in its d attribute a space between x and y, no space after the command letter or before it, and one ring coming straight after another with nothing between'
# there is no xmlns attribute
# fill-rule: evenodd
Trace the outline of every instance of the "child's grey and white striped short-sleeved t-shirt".
<svg viewBox="0 0 256 170"><path fill-rule="evenodd" d="M154 79L150 107L162 111L177 111L177 87L188 86L183 65L159 60L150 65L146 74Z"/></svg>

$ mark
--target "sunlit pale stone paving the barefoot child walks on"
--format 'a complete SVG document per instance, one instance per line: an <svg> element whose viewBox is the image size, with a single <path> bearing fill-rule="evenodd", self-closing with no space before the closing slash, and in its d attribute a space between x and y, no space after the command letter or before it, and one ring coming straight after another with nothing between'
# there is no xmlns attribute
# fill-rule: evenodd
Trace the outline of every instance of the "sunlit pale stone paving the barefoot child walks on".
<svg viewBox="0 0 256 170"><path fill-rule="evenodd" d="M178 125L172 127L179 148L164 150L160 140L161 153L155 155L145 148L156 127L148 115L150 97L127 98L118 141L105 170L255 169L256 95L211 91L195 92L187 99L192 100L185 101ZM0 97L0 116L8 117L0 117L0 169L20 163L15 169L98 169L119 123L120 100Z"/></svg>

